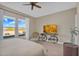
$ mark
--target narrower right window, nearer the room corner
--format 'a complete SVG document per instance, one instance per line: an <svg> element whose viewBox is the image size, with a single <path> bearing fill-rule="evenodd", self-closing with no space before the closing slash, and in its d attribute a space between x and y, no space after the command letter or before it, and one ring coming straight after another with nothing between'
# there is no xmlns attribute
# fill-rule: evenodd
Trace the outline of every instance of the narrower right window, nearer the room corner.
<svg viewBox="0 0 79 59"><path fill-rule="evenodd" d="M25 35L25 20L24 19L18 19L18 33L19 33L19 36Z"/></svg>

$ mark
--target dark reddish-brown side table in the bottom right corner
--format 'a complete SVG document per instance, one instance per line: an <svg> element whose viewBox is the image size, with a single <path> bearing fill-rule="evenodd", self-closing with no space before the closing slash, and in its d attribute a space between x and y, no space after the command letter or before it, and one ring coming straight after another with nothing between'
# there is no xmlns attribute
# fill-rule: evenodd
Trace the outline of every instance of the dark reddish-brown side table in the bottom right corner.
<svg viewBox="0 0 79 59"><path fill-rule="evenodd" d="M64 43L63 54L64 56L78 56L78 46L72 43Z"/></svg>

